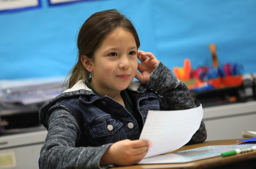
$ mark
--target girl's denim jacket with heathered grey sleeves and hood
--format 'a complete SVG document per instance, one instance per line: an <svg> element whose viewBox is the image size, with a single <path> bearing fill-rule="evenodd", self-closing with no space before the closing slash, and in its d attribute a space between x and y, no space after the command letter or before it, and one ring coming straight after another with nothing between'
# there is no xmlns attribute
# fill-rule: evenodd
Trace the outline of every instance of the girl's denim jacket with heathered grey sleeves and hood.
<svg viewBox="0 0 256 169"><path fill-rule="evenodd" d="M148 110L177 110L196 107L187 86L173 77L171 70L165 67L161 62L150 75L146 85L132 81L127 90L131 99L136 102L143 124ZM69 135L66 134L69 128L65 129L65 127L61 125L61 123L64 125L64 122L58 121L59 116L61 116L61 111L71 115L68 115L69 117L66 119L64 118L65 124L71 117L74 117L75 122L72 122L74 123L72 126L78 126L76 130L74 129L75 127L71 127L72 132L70 132ZM58 114L58 117L52 117L54 116L54 112ZM92 90L85 85L84 80L78 81L72 88L67 89L61 95L45 104L39 112L39 118L40 123L43 123L48 130L45 144L41 150L41 168L43 168L43 166L69 166L70 168L75 168L75 166L79 168L78 166L81 166L81 168L83 168L86 165L88 168L92 166L100 168L100 158L108 146L124 139L135 140L140 136L136 120L125 107L108 96L99 97L95 95ZM59 126L52 126L53 122L56 122L55 124L59 124ZM54 132L54 130L56 130L56 132ZM62 130L66 131L64 132ZM70 136L74 134L74 131L76 131L77 134L75 133L74 136ZM61 134L61 132L63 132L63 134ZM63 143L57 141L59 137L63 137ZM202 121L199 129L188 144L200 143L205 139L206 130L204 122ZM66 140L71 141L68 142ZM104 147L104 145L108 146ZM81 147L81 149L72 149L70 146ZM53 147L54 150L50 151ZM97 150L96 147L98 148ZM56 159L57 162L56 160L50 159L50 157L54 156L54 153L56 155L60 151L67 151L66 153L68 154L74 153L76 155L66 157L69 159L66 161L58 157L55 157L58 158ZM75 153L74 151L78 152ZM95 152L97 152L97 158ZM94 155L90 153L94 153ZM84 157L80 158L80 156ZM62 161L62 163L60 161ZM49 164L50 162L51 164ZM107 166L106 168L108 167L111 166Z"/></svg>

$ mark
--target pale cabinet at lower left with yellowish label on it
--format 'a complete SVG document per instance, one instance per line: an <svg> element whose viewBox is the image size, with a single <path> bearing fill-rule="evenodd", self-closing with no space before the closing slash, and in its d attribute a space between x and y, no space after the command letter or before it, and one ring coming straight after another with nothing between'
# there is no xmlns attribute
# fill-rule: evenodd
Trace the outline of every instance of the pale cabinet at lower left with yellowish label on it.
<svg viewBox="0 0 256 169"><path fill-rule="evenodd" d="M36 169L47 130L0 137L0 169Z"/></svg>

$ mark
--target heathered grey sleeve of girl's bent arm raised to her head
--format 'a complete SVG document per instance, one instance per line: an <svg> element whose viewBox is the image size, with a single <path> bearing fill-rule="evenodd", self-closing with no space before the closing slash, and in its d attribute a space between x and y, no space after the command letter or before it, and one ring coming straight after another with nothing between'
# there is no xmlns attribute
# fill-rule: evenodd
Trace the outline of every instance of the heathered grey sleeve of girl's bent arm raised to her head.
<svg viewBox="0 0 256 169"><path fill-rule="evenodd" d="M181 110L195 108L188 87L172 75L172 71L162 62L158 64L150 75L146 88L152 89L162 96L167 110ZM204 121L187 144L201 143L206 140L207 133Z"/></svg>

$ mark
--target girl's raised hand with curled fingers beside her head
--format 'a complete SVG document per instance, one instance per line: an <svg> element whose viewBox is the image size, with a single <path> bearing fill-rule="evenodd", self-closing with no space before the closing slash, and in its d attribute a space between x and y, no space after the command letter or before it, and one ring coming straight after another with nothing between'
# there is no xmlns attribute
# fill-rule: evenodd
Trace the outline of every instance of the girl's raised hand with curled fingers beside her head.
<svg viewBox="0 0 256 169"><path fill-rule="evenodd" d="M159 64L159 61L153 53L140 50L138 50L137 57L140 60L140 63L138 62L138 70L140 73L137 72L135 78L138 79L140 83L147 84L150 74Z"/></svg>

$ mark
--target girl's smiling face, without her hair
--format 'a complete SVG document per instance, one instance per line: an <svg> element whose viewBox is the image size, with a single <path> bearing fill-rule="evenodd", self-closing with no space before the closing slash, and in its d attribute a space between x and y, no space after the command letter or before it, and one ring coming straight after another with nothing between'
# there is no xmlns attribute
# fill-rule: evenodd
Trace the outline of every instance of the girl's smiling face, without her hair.
<svg viewBox="0 0 256 169"><path fill-rule="evenodd" d="M137 51L131 32L117 28L108 34L91 60L92 87L102 96L126 89L137 72Z"/></svg>

